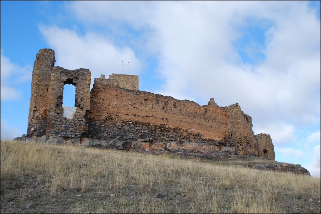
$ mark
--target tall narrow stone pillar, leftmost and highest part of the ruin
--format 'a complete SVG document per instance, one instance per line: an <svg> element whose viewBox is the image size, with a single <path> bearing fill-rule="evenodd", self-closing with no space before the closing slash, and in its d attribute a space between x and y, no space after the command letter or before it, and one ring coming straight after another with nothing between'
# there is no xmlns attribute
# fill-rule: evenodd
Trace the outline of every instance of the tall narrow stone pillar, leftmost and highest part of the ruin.
<svg viewBox="0 0 321 214"><path fill-rule="evenodd" d="M28 133L30 137L46 135L48 89L55 61L55 52L52 49L41 49L33 66L28 118Z"/></svg>

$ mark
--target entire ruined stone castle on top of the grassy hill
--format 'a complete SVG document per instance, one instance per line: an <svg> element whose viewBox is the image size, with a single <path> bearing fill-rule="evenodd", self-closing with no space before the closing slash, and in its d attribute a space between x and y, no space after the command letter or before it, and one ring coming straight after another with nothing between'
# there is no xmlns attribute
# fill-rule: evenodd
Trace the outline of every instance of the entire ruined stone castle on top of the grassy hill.
<svg viewBox="0 0 321 214"><path fill-rule="evenodd" d="M252 131L239 104L219 107L138 90L138 76L95 78L89 69L55 67L55 52L37 54L31 82L28 133L42 142L148 153L230 154L274 160L270 135ZM75 86L74 107L63 107L65 84Z"/></svg>

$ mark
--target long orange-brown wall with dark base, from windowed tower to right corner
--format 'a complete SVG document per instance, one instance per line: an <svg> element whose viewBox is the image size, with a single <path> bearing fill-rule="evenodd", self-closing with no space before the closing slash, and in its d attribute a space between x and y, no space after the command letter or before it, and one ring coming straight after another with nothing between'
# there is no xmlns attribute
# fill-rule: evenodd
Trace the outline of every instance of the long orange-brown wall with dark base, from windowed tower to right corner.
<svg viewBox="0 0 321 214"><path fill-rule="evenodd" d="M249 139L236 151L238 154L256 155L252 121L242 124L245 115L239 105L236 105L236 111L232 109L233 106L217 106L213 98L208 105L200 106L189 100L123 89L113 79L95 78L88 115L88 137L107 141L127 140L128 143L149 139L146 141L150 141L151 148L155 143L164 146L168 144L164 141L171 141L173 145L170 148L177 147L179 151L182 151L179 145L188 147L192 142L197 144L197 148L208 145L208 149L215 146L210 150L220 151L227 146L234 150L238 142ZM230 124L234 120L236 123ZM242 130L244 133L240 134ZM210 152L208 149L206 152Z"/></svg>

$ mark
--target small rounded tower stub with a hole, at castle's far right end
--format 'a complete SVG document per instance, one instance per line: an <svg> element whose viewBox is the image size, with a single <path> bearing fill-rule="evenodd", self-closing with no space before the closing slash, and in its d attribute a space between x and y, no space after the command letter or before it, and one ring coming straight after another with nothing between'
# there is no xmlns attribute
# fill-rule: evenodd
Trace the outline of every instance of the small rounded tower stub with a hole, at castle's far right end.
<svg viewBox="0 0 321 214"><path fill-rule="evenodd" d="M258 144L258 152L260 157L265 157L270 160L275 160L274 146L269 134L255 135Z"/></svg>

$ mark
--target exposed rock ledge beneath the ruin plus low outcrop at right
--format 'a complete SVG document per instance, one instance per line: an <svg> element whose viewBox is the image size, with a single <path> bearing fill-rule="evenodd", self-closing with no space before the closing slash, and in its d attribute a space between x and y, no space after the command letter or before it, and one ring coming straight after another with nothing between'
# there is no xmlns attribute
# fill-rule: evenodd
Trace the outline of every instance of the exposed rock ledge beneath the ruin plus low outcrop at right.
<svg viewBox="0 0 321 214"><path fill-rule="evenodd" d="M26 143L50 143L50 144L66 144L73 146L84 147L97 147L101 149L114 149L114 150L127 150L142 153L163 154L169 153L178 155L180 157L195 157L207 158L211 160L222 159L242 159L242 158L255 158L244 155L238 155L234 147L209 145L202 141L174 141L164 140L156 141L152 138L131 139L131 140L118 140L113 139L110 141L98 140L93 138L64 138L60 136L42 136L34 138L17 137L14 141L23 141ZM262 157L260 157L262 159ZM251 168L249 164L233 165L237 168ZM307 169L301 167L300 164L288 163L265 163L253 165L253 169L259 170L272 170L279 172L291 172L298 175L310 175Z"/></svg>

